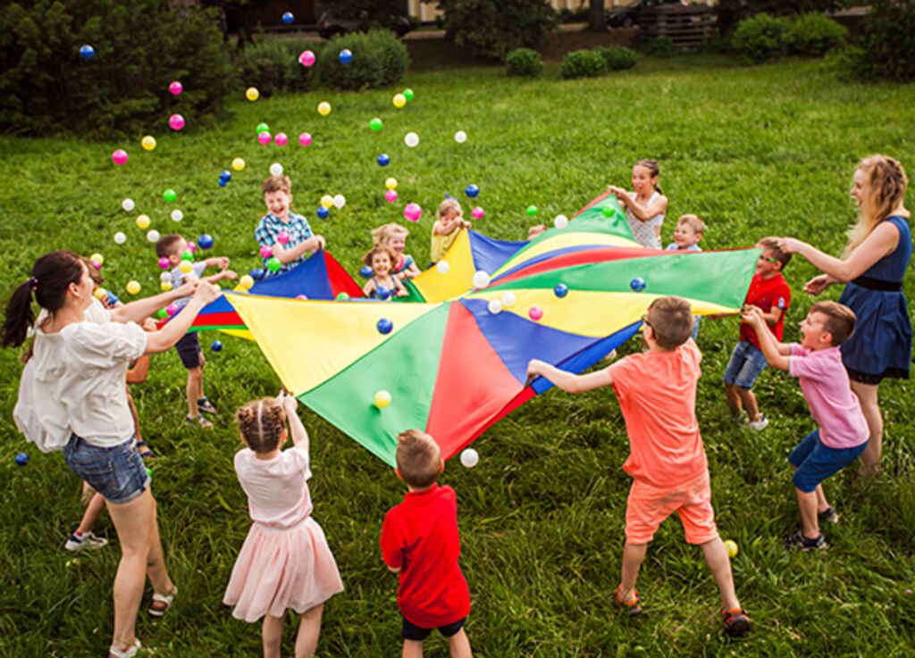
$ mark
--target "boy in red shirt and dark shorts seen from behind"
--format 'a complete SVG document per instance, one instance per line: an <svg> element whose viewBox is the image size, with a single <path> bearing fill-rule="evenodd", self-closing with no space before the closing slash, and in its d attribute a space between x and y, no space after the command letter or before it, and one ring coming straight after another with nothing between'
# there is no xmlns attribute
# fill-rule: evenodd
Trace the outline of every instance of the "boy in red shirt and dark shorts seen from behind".
<svg viewBox="0 0 915 658"><path fill-rule="evenodd" d="M420 430L397 437L397 476L406 483L404 502L384 516L382 558L399 576L397 605L404 618L404 658L421 658L423 641L437 628L452 658L470 658L464 621L470 591L458 567L458 503L455 490L440 487L445 469L436 441Z"/></svg>

